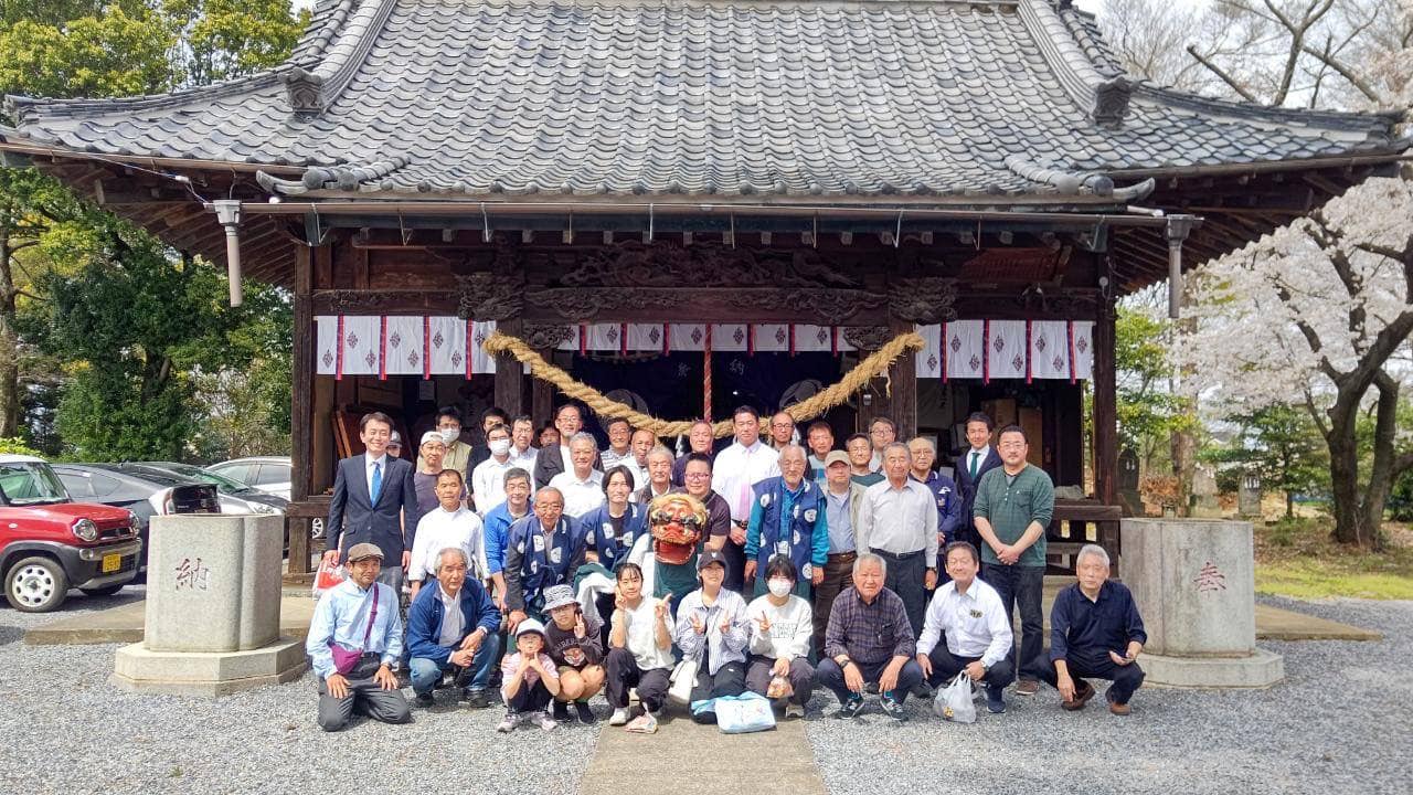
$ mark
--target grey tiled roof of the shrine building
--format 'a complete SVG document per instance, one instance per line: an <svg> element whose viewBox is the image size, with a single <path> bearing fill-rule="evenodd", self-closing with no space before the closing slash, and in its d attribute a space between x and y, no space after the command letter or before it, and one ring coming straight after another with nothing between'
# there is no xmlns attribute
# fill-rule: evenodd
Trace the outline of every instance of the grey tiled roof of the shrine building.
<svg viewBox="0 0 1413 795"><path fill-rule="evenodd" d="M325 0L271 72L11 102L18 141L311 167L280 192L1102 197L1407 146L1388 116L1129 83L1058 0Z"/></svg>

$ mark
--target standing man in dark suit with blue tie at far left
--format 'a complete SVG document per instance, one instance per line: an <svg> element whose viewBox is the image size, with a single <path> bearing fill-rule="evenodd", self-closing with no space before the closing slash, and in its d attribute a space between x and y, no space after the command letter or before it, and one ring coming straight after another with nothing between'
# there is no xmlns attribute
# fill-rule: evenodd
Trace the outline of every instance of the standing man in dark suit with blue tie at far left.
<svg viewBox="0 0 1413 795"><path fill-rule="evenodd" d="M372 412L359 420L359 440L366 451L339 461L329 522L325 525L329 549L324 560L338 563L342 552L356 543L377 545L387 563L377 581L400 588L413 547L413 539L403 535L403 528L415 529L421 512L417 509L413 465L387 454L391 437L393 419L387 414Z"/></svg>

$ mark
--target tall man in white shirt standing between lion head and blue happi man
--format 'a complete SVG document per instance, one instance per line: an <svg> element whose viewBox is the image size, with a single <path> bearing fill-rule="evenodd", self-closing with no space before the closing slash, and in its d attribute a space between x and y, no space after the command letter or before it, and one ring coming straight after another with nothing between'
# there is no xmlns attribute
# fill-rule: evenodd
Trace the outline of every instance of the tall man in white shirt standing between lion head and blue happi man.
<svg viewBox="0 0 1413 795"><path fill-rule="evenodd" d="M731 506L731 536L722 547L726 556L726 587L739 591L746 571L746 525L755 502L752 488L780 474L780 454L760 441L760 414L750 406L732 413L736 440L716 454L712 489Z"/></svg>

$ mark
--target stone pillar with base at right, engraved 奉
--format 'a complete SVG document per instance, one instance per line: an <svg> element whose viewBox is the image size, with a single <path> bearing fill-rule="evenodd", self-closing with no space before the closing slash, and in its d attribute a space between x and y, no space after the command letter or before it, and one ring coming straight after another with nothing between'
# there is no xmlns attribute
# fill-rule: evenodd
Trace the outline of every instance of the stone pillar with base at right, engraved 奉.
<svg viewBox="0 0 1413 795"><path fill-rule="evenodd" d="M1282 658L1256 648L1251 523L1130 518L1122 538L1149 683L1266 687L1284 678Z"/></svg>

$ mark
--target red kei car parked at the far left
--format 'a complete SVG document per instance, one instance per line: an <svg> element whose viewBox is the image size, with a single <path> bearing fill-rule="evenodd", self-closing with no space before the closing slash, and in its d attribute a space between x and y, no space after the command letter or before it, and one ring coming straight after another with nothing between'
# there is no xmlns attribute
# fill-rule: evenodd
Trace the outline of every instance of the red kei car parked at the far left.
<svg viewBox="0 0 1413 795"><path fill-rule="evenodd" d="M57 610L71 587L117 593L137 576L137 528L131 511L69 499L42 458L0 455L0 571L16 610Z"/></svg>

